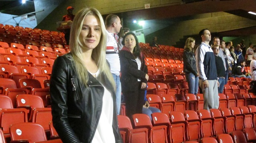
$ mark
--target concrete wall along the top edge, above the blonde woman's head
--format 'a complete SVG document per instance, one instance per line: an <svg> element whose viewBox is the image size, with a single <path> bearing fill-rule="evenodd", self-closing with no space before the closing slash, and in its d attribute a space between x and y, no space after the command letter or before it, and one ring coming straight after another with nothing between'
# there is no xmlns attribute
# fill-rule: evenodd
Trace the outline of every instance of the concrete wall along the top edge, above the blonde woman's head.
<svg viewBox="0 0 256 143"><path fill-rule="evenodd" d="M64 0L43 21L40 21L36 28L56 31L56 22L62 20L62 16L67 13L66 7L68 6L75 8L73 14L84 7L95 7L104 15L145 9L144 4L146 3L150 3L150 7L153 8L180 4L181 1L182 0Z"/></svg>

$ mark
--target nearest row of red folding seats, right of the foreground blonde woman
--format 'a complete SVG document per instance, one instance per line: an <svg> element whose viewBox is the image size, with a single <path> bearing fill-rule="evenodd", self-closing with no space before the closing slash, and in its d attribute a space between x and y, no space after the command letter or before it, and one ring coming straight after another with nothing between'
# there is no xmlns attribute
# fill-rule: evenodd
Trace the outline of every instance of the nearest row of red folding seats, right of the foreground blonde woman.
<svg viewBox="0 0 256 143"><path fill-rule="evenodd" d="M221 111L210 109L210 112L199 110L198 113L193 110L186 110L184 113L173 111L169 113L171 118L168 118L164 113L152 113L153 124L146 114L134 114L132 116L134 127L132 127L127 116L119 115L118 125L124 142L127 143L134 140L150 143L180 143L191 140L199 142L200 139L205 137L217 137L218 139L221 134L236 133L241 132L241 130L250 132L246 134L246 141L248 142L248 140L252 141L248 137L251 134L255 134L252 138L254 138L253 141L256 140L256 133L253 129L255 127L256 106L249 106L249 108L252 109L252 112L249 112L248 108L243 106L241 110L247 109L248 113L237 113L239 108L233 107L230 109L233 112L232 114L229 109ZM140 138L137 138L138 136Z"/></svg>

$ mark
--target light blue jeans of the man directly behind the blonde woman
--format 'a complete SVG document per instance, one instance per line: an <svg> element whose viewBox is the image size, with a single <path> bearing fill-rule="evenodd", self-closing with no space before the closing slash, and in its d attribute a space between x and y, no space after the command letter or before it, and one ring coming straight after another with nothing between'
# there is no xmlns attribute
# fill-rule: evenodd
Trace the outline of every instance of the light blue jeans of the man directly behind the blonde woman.
<svg viewBox="0 0 256 143"><path fill-rule="evenodd" d="M119 115L120 113L120 107L121 107L121 82L120 82L120 77L119 75L112 74L114 77L115 83L116 83L116 109L117 109L117 114Z"/></svg>

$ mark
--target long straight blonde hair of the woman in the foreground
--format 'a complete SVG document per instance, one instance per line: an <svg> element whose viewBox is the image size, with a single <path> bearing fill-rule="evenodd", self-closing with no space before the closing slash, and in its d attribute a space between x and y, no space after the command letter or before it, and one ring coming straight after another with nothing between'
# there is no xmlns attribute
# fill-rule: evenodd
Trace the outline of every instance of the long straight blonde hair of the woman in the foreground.
<svg viewBox="0 0 256 143"><path fill-rule="evenodd" d="M106 28L104 20L102 19L101 14L95 8L83 8L76 13L76 16L73 20L71 30L70 30L70 52L73 56L73 61L75 63L76 72L78 78L87 86L89 79L87 69L83 63L84 59L82 56L82 51L85 49L83 44L79 40L79 35L82 30L83 21L86 16L93 15L97 17L101 23L101 39L99 44L92 51L92 59L95 60L98 68L100 69L100 75L104 74L106 78L110 81L112 87L115 88L115 81L110 72L110 67L106 61ZM86 72L85 72L86 71Z"/></svg>

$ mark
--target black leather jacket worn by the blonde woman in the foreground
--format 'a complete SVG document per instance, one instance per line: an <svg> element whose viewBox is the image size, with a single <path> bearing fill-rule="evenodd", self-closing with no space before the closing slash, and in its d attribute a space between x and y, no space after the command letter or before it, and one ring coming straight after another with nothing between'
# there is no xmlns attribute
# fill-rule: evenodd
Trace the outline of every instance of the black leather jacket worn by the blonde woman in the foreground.
<svg viewBox="0 0 256 143"><path fill-rule="evenodd" d="M71 53L55 60L50 80L53 126L63 143L92 142L102 111L104 87L91 74L88 87L80 82L75 72ZM116 143L122 143L116 115L116 96L104 75L102 83L113 94L112 128Z"/></svg>

